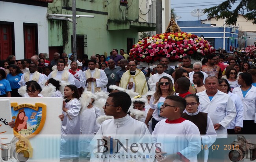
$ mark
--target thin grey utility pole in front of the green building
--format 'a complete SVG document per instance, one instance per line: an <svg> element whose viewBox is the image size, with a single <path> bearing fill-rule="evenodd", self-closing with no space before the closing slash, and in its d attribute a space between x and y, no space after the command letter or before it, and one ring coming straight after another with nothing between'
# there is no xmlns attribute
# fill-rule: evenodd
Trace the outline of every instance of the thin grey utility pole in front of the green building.
<svg viewBox="0 0 256 162"><path fill-rule="evenodd" d="M76 0L72 0L72 18L73 18L73 54L74 60L76 61Z"/></svg>

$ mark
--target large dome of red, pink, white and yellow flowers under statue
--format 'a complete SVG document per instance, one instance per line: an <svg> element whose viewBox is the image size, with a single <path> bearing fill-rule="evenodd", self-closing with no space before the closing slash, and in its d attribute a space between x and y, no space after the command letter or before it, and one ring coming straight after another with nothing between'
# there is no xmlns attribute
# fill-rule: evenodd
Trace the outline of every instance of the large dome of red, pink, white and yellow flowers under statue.
<svg viewBox="0 0 256 162"><path fill-rule="evenodd" d="M215 49L207 40L190 33L163 33L140 40L132 46L130 58L139 62L153 63L167 57L170 61L182 61L189 55L195 60L213 53Z"/></svg>

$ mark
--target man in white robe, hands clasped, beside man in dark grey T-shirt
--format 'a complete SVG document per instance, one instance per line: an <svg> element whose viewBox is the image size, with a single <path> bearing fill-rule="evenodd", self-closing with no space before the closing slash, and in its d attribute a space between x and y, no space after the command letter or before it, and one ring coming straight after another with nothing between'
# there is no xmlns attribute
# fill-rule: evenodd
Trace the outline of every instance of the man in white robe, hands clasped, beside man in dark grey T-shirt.
<svg viewBox="0 0 256 162"><path fill-rule="evenodd" d="M108 77L104 70L96 68L96 60L89 60L89 69L81 75L80 82L83 88L87 88L92 93L104 90L108 84Z"/></svg>

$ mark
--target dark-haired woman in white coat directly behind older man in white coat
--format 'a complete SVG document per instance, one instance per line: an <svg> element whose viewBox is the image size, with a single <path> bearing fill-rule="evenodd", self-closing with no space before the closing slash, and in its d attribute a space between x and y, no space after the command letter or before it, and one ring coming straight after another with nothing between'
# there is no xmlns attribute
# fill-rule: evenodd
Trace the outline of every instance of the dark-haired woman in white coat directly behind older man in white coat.
<svg viewBox="0 0 256 162"><path fill-rule="evenodd" d="M219 79L219 90L230 96L236 106L236 118L228 125L228 134L240 134L243 127L243 103L237 94L231 93L230 84L226 79Z"/></svg>

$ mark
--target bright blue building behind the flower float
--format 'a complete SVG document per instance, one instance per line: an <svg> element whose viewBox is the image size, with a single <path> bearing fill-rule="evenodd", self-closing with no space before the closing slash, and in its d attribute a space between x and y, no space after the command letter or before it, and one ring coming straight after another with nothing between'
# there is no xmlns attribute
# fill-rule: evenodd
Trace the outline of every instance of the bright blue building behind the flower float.
<svg viewBox="0 0 256 162"><path fill-rule="evenodd" d="M230 26L213 26L198 21L178 21L181 31L203 36L215 48L230 51L230 46L238 47L238 29Z"/></svg>

